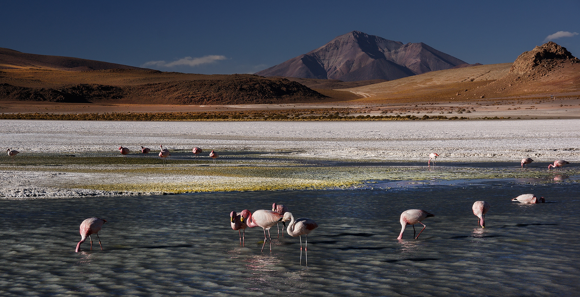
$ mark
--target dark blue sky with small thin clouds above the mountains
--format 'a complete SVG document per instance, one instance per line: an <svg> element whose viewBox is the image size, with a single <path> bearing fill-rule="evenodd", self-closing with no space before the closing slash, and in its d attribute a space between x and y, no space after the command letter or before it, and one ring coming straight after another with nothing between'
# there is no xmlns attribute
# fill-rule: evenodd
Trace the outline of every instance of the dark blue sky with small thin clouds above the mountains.
<svg viewBox="0 0 580 297"><path fill-rule="evenodd" d="M580 56L578 0L3 1L0 7L0 47L162 71L253 73L354 30L424 42L467 63L513 62L550 35Z"/></svg>

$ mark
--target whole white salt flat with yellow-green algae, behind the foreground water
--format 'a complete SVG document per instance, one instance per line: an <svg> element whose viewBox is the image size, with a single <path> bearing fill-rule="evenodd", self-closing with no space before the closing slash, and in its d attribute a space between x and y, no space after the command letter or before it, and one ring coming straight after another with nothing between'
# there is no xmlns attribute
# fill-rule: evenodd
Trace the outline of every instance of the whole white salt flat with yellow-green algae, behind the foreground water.
<svg viewBox="0 0 580 297"><path fill-rule="evenodd" d="M0 198L344 188L393 179L552 179L549 163L580 161L579 119L0 123L2 144L20 151L0 159ZM121 145L131 149L129 157L119 155ZM154 152L159 145L172 153L168 166L157 153L140 154L140 146ZM193 146L204 149L200 159ZM212 150L220 154L215 165ZM426 170L430 152L440 155L434 171ZM535 160L531 170L520 170L523 157ZM473 162L509 168L465 167ZM573 166L568 175L578 174Z"/></svg>

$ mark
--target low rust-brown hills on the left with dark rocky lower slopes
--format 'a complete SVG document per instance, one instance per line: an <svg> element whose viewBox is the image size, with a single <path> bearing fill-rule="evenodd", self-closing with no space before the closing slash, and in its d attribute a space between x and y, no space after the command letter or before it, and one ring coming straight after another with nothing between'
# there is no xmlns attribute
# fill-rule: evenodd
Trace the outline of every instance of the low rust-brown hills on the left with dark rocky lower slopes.
<svg viewBox="0 0 580 297"><path fill-rule="evenodd" d="M332 101L284 78L161 72L0 49L0 101L279 104Z"/></svg>

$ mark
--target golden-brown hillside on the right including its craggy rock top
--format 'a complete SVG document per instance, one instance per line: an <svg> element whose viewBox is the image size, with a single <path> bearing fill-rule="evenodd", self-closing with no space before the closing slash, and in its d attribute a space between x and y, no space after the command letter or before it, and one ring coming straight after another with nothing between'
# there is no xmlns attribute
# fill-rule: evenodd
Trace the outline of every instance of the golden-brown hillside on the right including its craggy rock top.
<svg viewBox="0 0 580 297"><path fill-rule="evenodd" d="M580 91L580 61L553 42L521 54L514 63L433 71L346 89L375 102L469 101L548 97Z"/></svg>

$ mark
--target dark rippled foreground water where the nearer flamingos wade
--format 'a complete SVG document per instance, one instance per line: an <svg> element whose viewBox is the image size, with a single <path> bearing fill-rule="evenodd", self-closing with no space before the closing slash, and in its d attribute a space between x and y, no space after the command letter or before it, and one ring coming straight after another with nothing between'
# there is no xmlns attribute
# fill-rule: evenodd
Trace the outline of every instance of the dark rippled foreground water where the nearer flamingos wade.
<svg viewBox="0 0 580 297"><path fill-rule="evenodd" d="M461 181L397 188L0 201L2 296L577 296L580 185ZM548 203L510 201L535 193ZM477 228L471 206L492 207ZM300 265L298 237L246 247L229 212L287 205L320 227ZM435 217L418 240L399 215ZM100 217L81 252L83 219ZM417 225L417 231L420 230ZM303 259L304 261L304 259Z"/></svg>

